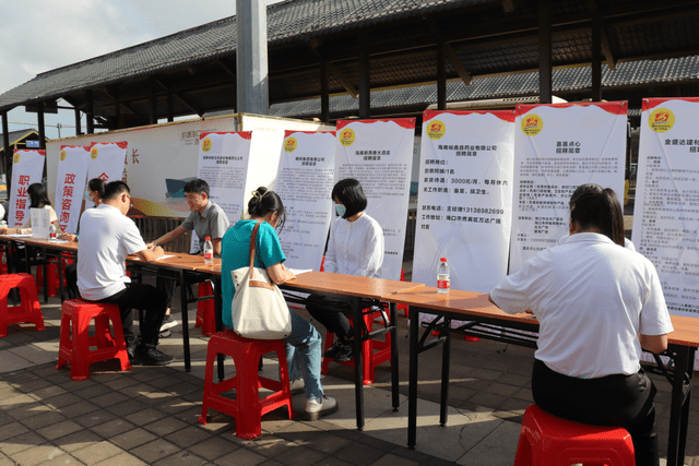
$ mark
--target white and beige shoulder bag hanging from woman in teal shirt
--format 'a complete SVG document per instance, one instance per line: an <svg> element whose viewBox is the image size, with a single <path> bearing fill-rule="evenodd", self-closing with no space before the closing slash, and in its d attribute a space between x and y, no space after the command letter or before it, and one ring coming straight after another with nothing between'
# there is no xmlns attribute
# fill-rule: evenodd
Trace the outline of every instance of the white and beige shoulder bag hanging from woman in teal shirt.
<svg viewBox="0 0 699 466"><path fill-rule="evenodd" d="M282 339L292 333L292 314L265 268L254 266L254 244L261 222L250 237L250 266L230 272L236 294L230 303L233 330L257 339Z"/></svg>

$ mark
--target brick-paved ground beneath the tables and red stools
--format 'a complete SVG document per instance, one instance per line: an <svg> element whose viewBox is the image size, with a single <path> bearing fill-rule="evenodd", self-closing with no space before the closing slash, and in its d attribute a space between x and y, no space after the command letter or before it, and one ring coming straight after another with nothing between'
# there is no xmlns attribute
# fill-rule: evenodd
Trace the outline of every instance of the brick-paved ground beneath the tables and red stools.
<svg viewBox="0 0 699 466"><path fill-rule="evenodd" d="M511 465L521 415L532 403L530 371L533 350L502 351L491 342L453 344L450 419L438 427L440 365L438 350L420 356L418 445L405 447L407 414L407 321L399 324L401 408L390 408L388 366L365 391L367 425L354 429L352 370L331 365L323 379L341 409L318 422L288 420L283 411L264 417L262 437L242 441L235 421L201 414L206 338L192 328L193 368L183 371L179 330L162 340L178 356L165 368L134 367L118 372L116 362L93 365L87 381L74 382L70 370L57 370L60 308L51 298L43 306L47 330L12 325L0 339L0 466L39 464L190 464L190 465ZM190 322L194 311L190 311ZM179 320L179 313L175 313ZM498 349L500 353L498 353ZM433 361L433 363L430 363ZM265 359L273 377L276 361ZM667 438L670 385L653 377L660 390L662 444ZM696 397L692 396L692 397ZM295 397L303 409L303 395ZM699 401L692 399L687 464L699 465ZM663 446L664 449L664 446Z"/></svg>

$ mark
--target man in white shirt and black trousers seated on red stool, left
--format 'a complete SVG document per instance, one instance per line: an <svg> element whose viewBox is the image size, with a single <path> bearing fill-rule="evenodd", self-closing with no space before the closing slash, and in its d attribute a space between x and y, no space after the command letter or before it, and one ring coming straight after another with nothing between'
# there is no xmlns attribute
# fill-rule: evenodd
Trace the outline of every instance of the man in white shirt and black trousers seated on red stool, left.
<svg viewBox="0 0 699 466"><path fill-rule="evenodd" d="M158 330L165 315L165 295L151 285L132 284L126 274L127 255L144 262L163 256L163 248L149 249L133 220L129 187L112 181L105 188L103 204L83 212L78 243L78 289L83 299L119 306L121 326L132 363L163 366L175 358L158 351ZM137 340L132 309L144 311Z"/></svg>

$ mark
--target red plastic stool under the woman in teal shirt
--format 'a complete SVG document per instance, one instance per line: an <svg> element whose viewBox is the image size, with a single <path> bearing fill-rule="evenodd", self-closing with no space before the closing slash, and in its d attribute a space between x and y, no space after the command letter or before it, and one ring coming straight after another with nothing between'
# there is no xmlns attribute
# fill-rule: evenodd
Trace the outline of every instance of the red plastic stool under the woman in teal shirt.
<svg viewBox="0 0 699 466"><path fill-rule="evenodd" d="M281 381L258 374L260 358L272 351L276 353L280 360ZM214 361L220 354L233 357L236 375L214 384ZM274 393L260 399L260 387L273 390ZM234 389L236 399L221 396L222 393ZM254 439L260 437L262 431L262 415L282 406L287 407L289 419L294 419L296 414L292 408L292 390L284 342L281 339L244 338L229 330L218 332L209 339L204 397L199 422L205 425L209 409L215 409L236 419L237 437Z"/></svg>

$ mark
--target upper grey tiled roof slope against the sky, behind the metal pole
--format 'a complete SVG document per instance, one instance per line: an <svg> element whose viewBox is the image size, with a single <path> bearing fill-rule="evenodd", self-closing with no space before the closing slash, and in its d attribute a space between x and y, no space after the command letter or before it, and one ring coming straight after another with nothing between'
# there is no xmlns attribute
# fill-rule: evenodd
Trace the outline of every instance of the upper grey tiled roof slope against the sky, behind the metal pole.
<svg viewBox="0 0 699 466"><path fill-rule="evenodd" d="M268 8L268 46L487 1L289 0ZM0 110L212 61L235 49L236 17L230 16L38 74L0 95Z"/></svg>

